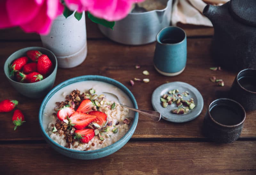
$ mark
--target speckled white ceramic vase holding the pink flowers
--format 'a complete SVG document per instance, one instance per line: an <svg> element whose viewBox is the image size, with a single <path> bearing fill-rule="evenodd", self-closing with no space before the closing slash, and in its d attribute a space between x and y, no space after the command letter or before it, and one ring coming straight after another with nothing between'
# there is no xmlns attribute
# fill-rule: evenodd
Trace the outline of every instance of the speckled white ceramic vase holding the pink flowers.
<svg viewBox="0 0 256 175"><path fill-rule="evenodd" d="M58 67L73 68L80 65L87 55L85 15L77 20L74 13L67 19L60 15L52 24L48 35L40 35L43 46L57 57Z"/></svg>

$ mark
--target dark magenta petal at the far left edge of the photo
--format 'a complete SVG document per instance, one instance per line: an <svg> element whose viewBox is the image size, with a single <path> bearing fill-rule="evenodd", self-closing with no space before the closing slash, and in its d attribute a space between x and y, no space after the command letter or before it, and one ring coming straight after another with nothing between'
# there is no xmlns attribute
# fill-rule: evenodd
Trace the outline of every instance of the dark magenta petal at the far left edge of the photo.
<svg viewBox="0 0 256 175"><path fill-rule="evenodd" d="M0 1L0 28L13 27L6 10L6 0Z"/></svg>

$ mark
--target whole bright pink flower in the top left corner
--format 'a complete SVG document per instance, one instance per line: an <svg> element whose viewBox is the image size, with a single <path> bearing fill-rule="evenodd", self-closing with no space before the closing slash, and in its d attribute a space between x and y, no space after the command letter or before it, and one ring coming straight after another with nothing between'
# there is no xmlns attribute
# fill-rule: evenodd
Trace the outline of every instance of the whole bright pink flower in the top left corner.
<svg viewBox="0 0 256 175"><path fill-rule="evenodd" d="M25 32L48 34L63 9L60 0L1 0L0 28L20 26Z"/></svg>

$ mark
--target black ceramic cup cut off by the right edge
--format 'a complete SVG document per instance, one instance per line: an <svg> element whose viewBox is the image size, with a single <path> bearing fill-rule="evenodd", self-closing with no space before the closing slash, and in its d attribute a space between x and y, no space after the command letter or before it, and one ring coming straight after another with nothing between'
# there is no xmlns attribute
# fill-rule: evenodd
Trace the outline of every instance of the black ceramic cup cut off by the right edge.
<svg viewBox="0 0 256 175"><path fill-rule="evenodd" d="M230 98L239 102L245 110L256 109L256 69L244 69L236 75Z"/></svg>

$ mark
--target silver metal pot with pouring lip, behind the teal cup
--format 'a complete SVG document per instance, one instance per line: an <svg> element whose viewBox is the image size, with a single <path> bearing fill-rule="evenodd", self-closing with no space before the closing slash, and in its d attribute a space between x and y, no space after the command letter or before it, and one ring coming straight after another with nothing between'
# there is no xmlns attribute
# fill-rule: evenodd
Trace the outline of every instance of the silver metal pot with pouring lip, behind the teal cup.
<svg viewBox="0 0 256 175"><path fill-rule="evenodd" d="M116 21L114 30L99 25L100 31L113 41L122 44L140 45L156 41L158 32L170 25L172 0L160 0L166 3L162 10L141 13L129 13L123 20Z"/></svg>

